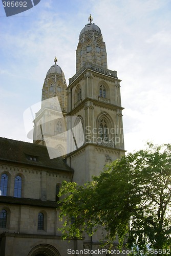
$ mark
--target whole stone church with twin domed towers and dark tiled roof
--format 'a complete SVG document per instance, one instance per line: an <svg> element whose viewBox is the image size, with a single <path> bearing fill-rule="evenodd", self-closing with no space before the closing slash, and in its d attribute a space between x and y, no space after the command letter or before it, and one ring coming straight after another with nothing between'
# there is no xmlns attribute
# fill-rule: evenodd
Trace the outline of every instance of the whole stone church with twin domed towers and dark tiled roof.
<svg viewBox="0 0 171 256"><path fill-rule="evenodd" d="M100 232L61 240L56 202L62 181L82 185L124 155L121 80L108 69L91 15L79 34L68 86L56 57L54 62L35 113L33 143L0 138L1 256L67 256L101 248Z"/></svg>

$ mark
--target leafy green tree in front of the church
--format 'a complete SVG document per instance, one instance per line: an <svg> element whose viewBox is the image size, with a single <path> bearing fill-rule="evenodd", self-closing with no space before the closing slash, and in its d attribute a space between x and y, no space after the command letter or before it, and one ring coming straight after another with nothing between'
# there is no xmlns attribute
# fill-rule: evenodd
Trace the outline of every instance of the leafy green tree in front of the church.
<svg viewBox="0 0 171 256"><path fill-rule="evenodd" d="M81 239L84 232L92 236L101 228L104 244L112 245L118 234L120 247L126 237L128 248L166 254L163 249L171 243L171 145L148 143L146 150L112 162L83 186L63 182L60 196L64 239Z"/></svg>

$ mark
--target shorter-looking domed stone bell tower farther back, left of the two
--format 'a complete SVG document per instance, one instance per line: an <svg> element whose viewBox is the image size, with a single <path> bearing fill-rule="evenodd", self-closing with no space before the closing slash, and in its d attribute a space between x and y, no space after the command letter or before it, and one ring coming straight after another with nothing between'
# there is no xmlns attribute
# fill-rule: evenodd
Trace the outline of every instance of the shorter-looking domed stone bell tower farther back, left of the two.
<svg viewBox="0 0 171 256"><path fill-rule="evenodd" d="M51 158L67 154L65 116L67 114L67 84L62 69L55 64L50 67L42 87L41 109L34 119L33 143L47 145L53 138L54 152Z"/></svg>

